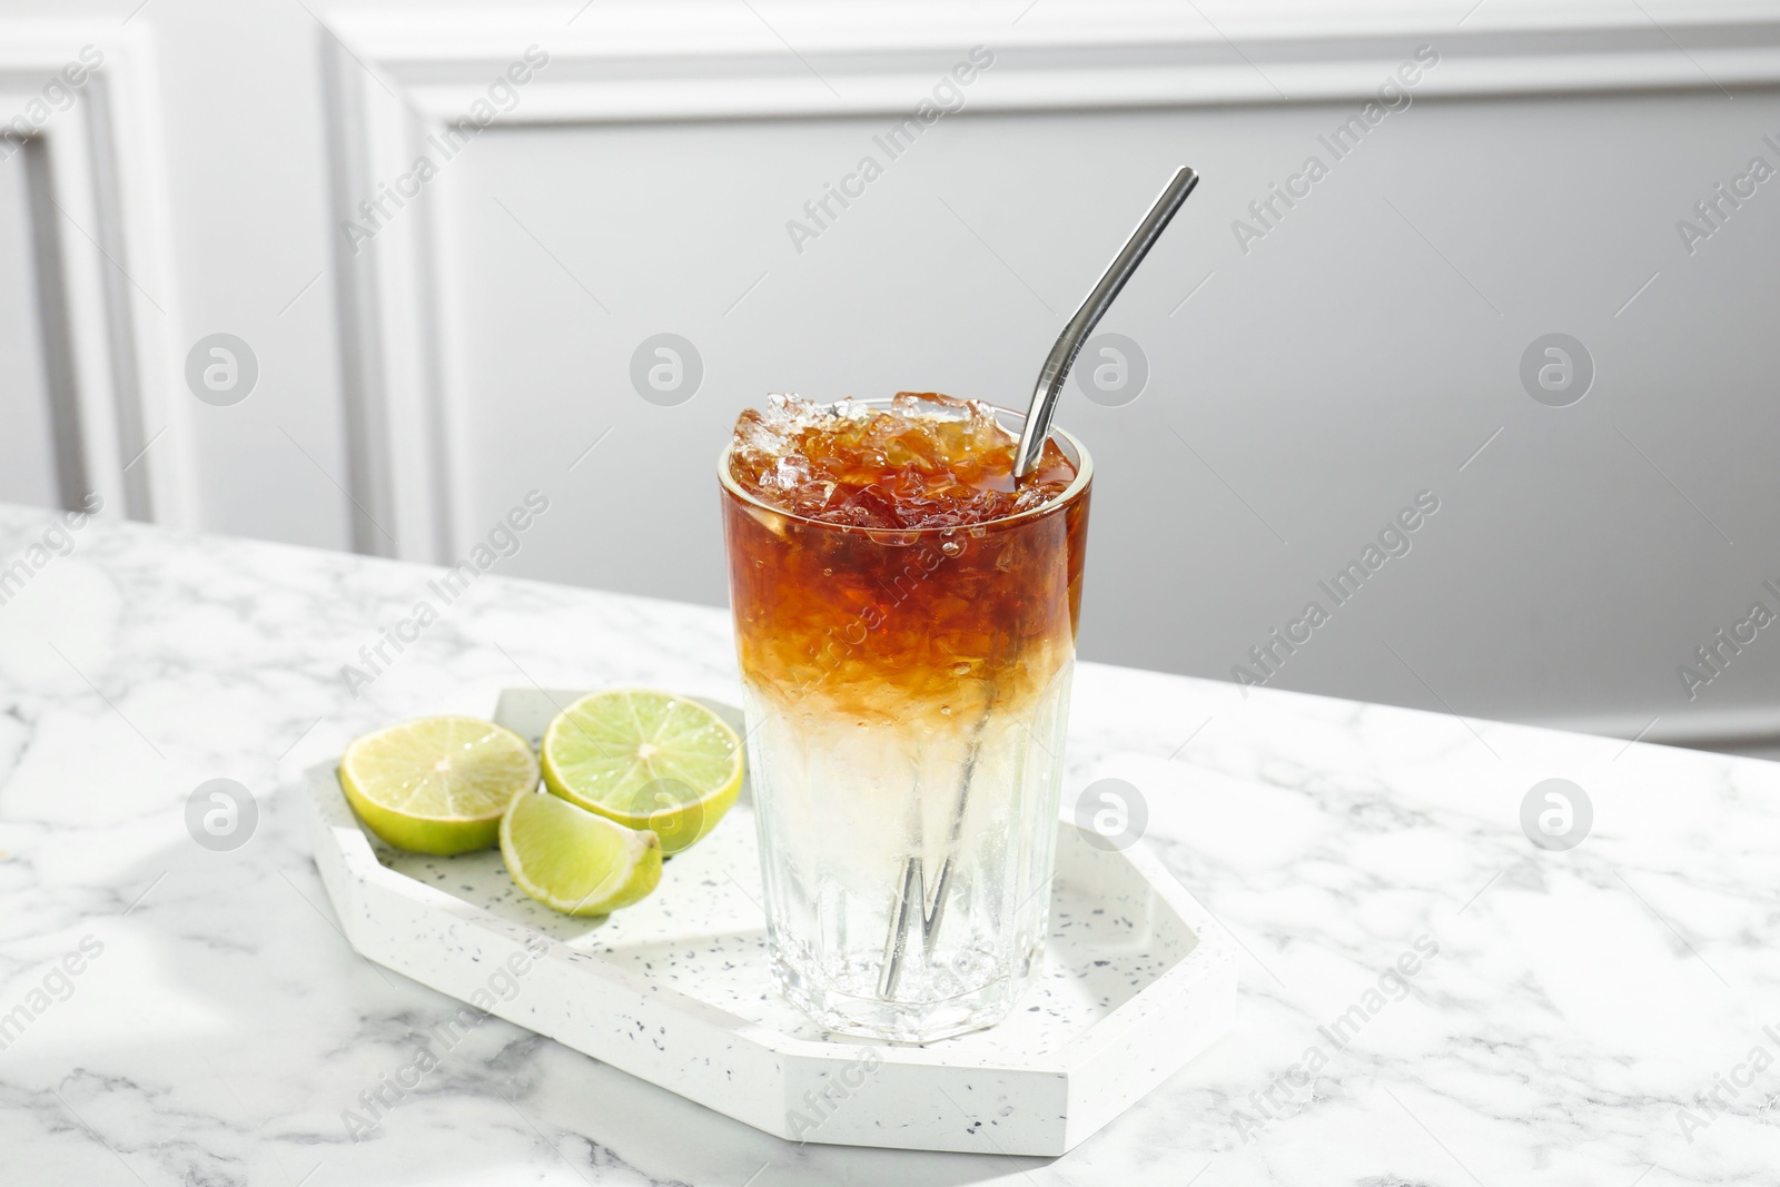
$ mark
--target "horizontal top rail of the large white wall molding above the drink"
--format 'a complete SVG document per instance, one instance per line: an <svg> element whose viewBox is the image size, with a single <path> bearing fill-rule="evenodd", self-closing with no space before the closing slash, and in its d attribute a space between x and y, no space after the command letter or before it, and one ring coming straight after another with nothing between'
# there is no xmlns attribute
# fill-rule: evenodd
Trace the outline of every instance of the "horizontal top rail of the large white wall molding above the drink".
<svg viewBox="0 0 1780 1187"><path fill-rule="evenodd" d="M746 5L602 4L566 28L550 20L559 11L534 9L440 14L424 32L409 16L354 14L336 32L434 119L461 110L465 84L539 43L554 64L520 123L901 110L972 44L997 53L974 110L1362 100L1420 44L1442 68L1419 96L1780 80L1771 2L1650 4L1646 18L1597 0L1488 0L1461 25L1468 2L1440 20L1426 4L1041 0L1011 21L1022 7L774 4L762 7L769 27Z"/></svg>

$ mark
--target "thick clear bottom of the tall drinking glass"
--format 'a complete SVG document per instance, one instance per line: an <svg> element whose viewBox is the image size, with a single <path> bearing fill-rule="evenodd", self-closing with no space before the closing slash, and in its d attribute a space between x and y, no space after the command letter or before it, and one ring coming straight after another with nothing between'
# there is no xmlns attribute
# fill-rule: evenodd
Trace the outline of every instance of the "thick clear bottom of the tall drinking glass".
<svg viewBox="0 0 1780 1187"><path fill-rule="evenodd" d="M797 1009L835 1034L853 1034L890 1043L933 1043L958 1034L983 1030L1006 1021L1015 1004L1038 979L1043 949L1034 947L1018 961L1016 972L967 993L942 1000L895 1002L881 997L847 993L824 984L817 970L773 945L773 981ZM872 984L879 966L858 963L840 970L842 982Z"/></svg>

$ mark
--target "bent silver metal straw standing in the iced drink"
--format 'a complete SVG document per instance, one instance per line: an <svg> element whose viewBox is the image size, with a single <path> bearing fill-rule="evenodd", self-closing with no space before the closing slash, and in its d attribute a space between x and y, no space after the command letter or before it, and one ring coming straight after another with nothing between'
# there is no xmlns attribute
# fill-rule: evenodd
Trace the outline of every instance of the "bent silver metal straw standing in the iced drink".
<svg viewBox="0 0 1780 1187"><path fill-rule="evenodd" d="M1045 438L1050 436L1050 420L1057 413L1057 397L1063 393L1063 381L1070 377L1070 367L1075 363L1075 356L1080 354L1082 343L1088 335L1093 333L1095 326L1111 308L1112 299L1118 297L1125 281L1130 274L1137 271L1143 258L1150 253L1150 247L1162 235L1162 228L1168 221L1175 217L1180 210L1180 203L1187 201L1187 194L1193 187L1200 183L1200 174L1193 173L1185 166L1169 180L1168 187L1162 189L1162 196L1155 199L1150 206L1150 214L1143 215L1143 222L1137 230L1130 233L1125 246L1120 249L1118 256L1112 258L1111 267L1107 267L1105 276L1100 283L1093 287L1093 292L1082 301L1082 308L1075 310L1075 317L1070 324L1063 327L1057 335L1057 345L1050 347L1050 354L1045 358L1045 365L1038 372L1038 386L1032 390L1032 408L1025 415L1025 431L1020 436L1020 452L1015 454L1015 479L1024 479L1032 473L1038 466L1038 457L1045 448ZM983 707L983 715L977 719L977 726L970 737L970 756L965 760L963 778L958 787L958 806L952 810L952 828L947 838L947 856L940 863L940 874L934 879L933 893L929 899L927 883L922 877L920 858L911 856L902 865L902 877L897 884L895 902L890 904L890 933L885 936L885 963L878 975L878 997L883 1000L894 1000L897 984L902 981L902 963L908 957L908 933L913 922L920 920L922 936L922 956L931 959L933 949L940 938L940 924L945 920L945 900L951 897L952 890L952 868L958 858L958 844L965 831L965 810L970 804L970 781L977 772L977 755L983 746L983 730L988 726L990 714L995 708L995 690L990 689L988 705ZM931 902L931 906L929 906Z"/></svg>

